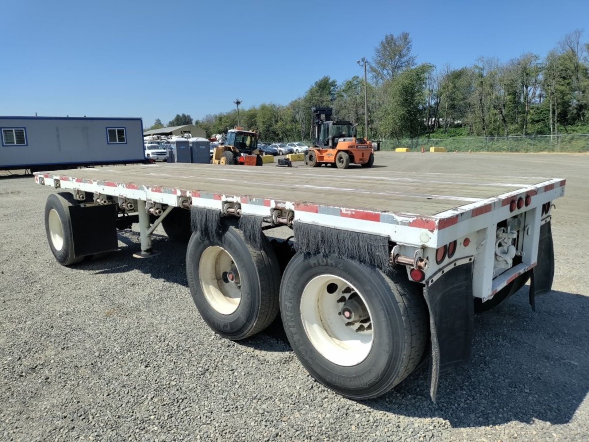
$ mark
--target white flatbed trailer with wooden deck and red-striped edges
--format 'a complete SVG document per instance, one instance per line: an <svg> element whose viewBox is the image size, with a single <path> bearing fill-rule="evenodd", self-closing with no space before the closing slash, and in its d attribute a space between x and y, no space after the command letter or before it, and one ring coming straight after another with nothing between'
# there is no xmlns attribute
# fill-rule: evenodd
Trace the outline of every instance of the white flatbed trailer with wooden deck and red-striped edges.
<svg viewBox="0 0 589 442"><path fill-rule="evenodd" d="M188 239L191 213L187 277L203 319L243 339L269 325L280 303L303 365L352 398L398 384L428 339L435 398L439 371L468 362L475 311L528 278L533 308L552 285L551 202L565 187L386 167L178 163L39 172L35 182L71 192L50 196L45 210L64 265L117 248L125 220L139 223L137 256L153 256L154 228ZM262 234L282 225L293 229L292 259Z"/></svg>

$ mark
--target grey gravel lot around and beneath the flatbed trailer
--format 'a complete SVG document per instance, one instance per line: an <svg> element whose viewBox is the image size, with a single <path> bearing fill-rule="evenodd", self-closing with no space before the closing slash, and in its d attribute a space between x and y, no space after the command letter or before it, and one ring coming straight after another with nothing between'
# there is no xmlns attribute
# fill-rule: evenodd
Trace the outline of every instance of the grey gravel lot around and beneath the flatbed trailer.
<svg viewBox="0 0 589 442"><path fill-rule="evenodd" d="M436 404L425 367L376 400L336 395L279 322L217 337L186 287L186 250L161 230L158 258L131 258L128 232L108 259L59 266L42 219L51 189L0 177L0 440L589 440L589 156L434 158L431 171L567 178L554 292L535 313L524 288L477 316L472 364L442 374Z"/></svg>

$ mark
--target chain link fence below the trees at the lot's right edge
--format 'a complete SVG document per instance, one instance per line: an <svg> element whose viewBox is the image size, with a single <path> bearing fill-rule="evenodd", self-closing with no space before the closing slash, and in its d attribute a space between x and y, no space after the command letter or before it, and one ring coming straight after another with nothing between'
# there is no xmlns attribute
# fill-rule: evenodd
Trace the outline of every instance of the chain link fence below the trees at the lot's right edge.
<svg viewBox="0 0 589 442"><path fill-rule="evenodd" d="M380 150L391 151L408 147L410 151L429 151L445 147L449 152L587 152L589 134L529 135L511 137L419 138L383 140Z"/></svg>

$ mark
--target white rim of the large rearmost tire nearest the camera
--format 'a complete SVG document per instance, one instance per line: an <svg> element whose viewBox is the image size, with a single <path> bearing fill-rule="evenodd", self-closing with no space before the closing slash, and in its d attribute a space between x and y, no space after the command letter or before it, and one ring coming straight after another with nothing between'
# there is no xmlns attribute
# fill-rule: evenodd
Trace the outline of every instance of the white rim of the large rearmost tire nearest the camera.
<svg viewBox="0 0 589 442"><path fill-rule="evenodd" d="M335 291L332 284L337 286ZM365 318L362 322L346 326L352 321L347 321L340 312L350 298L358 304L362 303L368 313L368 321ZM362 294L345 279L320 275L309 281L300 298L300 317L309 341L330 362L352 367L368 357L374 334L372 315Z"/></svg>

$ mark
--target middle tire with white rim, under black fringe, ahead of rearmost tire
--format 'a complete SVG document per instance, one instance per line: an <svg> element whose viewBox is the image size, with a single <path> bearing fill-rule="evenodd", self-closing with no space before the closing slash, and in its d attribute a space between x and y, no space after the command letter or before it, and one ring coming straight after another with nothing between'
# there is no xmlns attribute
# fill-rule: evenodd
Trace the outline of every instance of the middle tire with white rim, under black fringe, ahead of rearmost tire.
<svg viewBox="0 0 589 442"><path fill-rule="evenodd" d="M227 270L236 274L239 293L237 283L229 282ZM265 236L257 250L233 225L226 226L219 239L201 238L194 232L186 252L186 276L201 317L225 338L248 338L269 326L278 314L280 267Z"/></svg>

